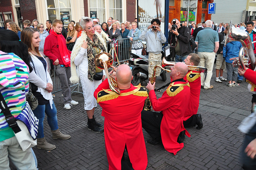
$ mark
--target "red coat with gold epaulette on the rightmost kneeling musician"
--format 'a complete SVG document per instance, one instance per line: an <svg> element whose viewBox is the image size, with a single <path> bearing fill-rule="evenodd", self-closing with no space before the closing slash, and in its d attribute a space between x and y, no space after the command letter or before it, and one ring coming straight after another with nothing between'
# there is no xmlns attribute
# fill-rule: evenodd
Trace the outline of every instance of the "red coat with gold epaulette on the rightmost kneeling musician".
<svg viewBox="0 0 256 170"><path fill-rule="evenodd" d="M200 71L188 71L184 79L188 80L190 85L190 99L186 112L184 113L184 121L188 120L192 115L196 115L199 107L201 76Z"/></svg>

